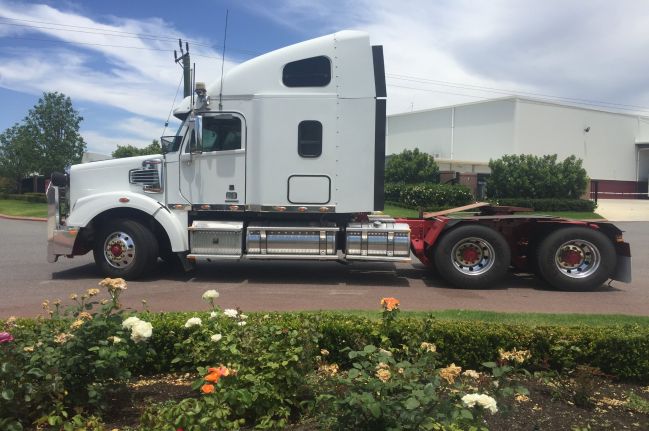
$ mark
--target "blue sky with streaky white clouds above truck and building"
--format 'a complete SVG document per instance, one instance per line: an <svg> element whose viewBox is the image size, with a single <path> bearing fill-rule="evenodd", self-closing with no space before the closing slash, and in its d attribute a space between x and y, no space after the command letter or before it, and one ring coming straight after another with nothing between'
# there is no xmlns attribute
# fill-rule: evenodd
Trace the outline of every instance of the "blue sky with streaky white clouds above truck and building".
<svg viewBox="0 0 649 431"><path fill-rule="evenodd" d="M644 0L0 0L0 130L61 91L84 116L90 151L147 145L180 80L175 39L190 40L197 80L217 80L226 9L226 69L337 30L369 32L384 45L390 113L516 93L649 115Z"/></svg>

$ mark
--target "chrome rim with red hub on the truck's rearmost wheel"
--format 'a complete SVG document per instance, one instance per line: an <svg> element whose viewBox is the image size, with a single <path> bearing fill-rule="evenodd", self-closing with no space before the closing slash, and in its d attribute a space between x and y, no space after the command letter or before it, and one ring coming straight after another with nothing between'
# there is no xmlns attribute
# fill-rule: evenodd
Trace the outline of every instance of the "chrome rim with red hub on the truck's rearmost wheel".
<svg viewBox="0 0 649 431"><path fill-rule="evenodd" d="M599 268L601 261L598 248L582 239L564 242L554 254L557 269L570 278L586 278L592 275Z"/></svg>

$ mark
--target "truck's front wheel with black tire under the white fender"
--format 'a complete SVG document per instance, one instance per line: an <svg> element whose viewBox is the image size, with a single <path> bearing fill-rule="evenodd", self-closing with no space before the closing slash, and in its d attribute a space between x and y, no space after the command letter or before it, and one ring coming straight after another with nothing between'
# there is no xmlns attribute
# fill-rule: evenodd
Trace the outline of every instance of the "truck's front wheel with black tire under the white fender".
<svg viewBox="0 0 649 431"><path fill-rule="evenodd" d="M141 223L118 219L101 229L93 254L105 276L134 280L153 268L158 259L158 241Z"/></svg>

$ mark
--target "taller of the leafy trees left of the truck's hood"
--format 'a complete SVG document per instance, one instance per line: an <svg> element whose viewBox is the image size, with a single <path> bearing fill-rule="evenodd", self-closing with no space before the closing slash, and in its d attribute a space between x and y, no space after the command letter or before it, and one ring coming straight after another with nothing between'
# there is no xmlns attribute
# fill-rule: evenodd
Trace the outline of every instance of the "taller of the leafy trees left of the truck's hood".
<svg viewBox="0 0 649 431"><path fill-rule="evenodd" d="M38 99L21 126L37 155L38 173L49 175L81 161L86 149L79 134L82 120L72 100L63 93L43 93Z"/></svg>

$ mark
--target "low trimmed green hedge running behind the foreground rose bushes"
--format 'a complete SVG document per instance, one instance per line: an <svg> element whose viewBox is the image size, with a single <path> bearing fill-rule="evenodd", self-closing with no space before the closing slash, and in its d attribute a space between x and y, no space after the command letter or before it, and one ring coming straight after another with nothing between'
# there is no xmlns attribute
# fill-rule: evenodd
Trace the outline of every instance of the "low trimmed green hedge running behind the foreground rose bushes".
<svg viewBox="0 0 649 431"><path fill-rule="evenodd" d="M180 352L174 345L186 338L184 323L189 317L208 318L206 313L150 314L154 327L151 354L139 364L142 373L176 370L172 364ZM305 322L310 323L305 325ZM346 347L362 350L367 344L416 347L423 341L437 345L441 363L481 369L493 361L499 348L529 349L532 369L573 369L577 365L597 367L618 378L649 382L649 328L638 325L615 327L564 327L494 324L478 321L446 321L435 318L399 317L388 329L380 320L341 313L270 313L251 315L248 330L260 325L281 325L319 339L319 347L331 352L330 361L350 366ZM306 330L304 328L315 328ZM315 333L310 332L315 331ZM155 352L155 353L153 353Z"/></svg>

